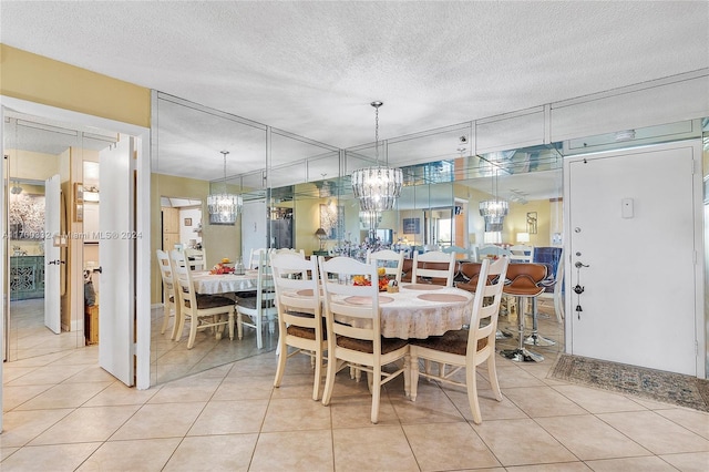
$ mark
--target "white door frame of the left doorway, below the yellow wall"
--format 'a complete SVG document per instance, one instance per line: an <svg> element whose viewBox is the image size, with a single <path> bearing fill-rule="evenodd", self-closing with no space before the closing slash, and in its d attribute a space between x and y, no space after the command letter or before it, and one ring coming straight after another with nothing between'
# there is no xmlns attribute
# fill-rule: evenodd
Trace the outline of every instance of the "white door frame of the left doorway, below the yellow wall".
<svg viewBox="0 0 709 472"><path fill-rule="evenodd" d="M0 95L0 117L4 123L4 107L18 113L41 116L53 121L72 124L88 125L130 134L140 140L137 147L137 182L136 182L136 230L143 237L136 242L135 267L135 306L136 306L136 342L134 345L136 356L136 388L140 390L150 388L150 350L151 350L151 130L130 123L109 120L100 116L79 113L71 110L58 109L41 103L29 102ZM0 126L0 142L2 141L3 126ZM0 166L0 182L4 176ZM1 196L0 198L3 198ZM0 204L2 202L0 201ZM0 232L6 232L6 222L0 218ZM4 246L0 249L0 256L7 257ZM0 286L3 286L4 274L0 270ZM82 295L83 297L83 295ZM4 337L4 327L0 324L0 342ZM0 378L2 378L2 362L0 362ZM2 402L2 384L0 383L0 403ZM2 411L0 411L0 431L2 431Z"/></svg>

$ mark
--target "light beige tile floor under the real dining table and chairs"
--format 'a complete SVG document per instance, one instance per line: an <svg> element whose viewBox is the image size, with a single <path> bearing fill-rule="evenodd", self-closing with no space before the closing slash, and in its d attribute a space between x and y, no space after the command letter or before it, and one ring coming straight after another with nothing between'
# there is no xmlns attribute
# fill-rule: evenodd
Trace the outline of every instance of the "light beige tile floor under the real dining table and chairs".
<svg viewBox="0 0 709 472"><path fill-rule="evenodd" d="M4 365L0 470L709 470L708 413L549 379L557 350L497 356L502 402L480 369L480 425L462 389L425 380L415 402L387 384L378 424L346 372L323 407L302 356L278 389L265 352L148 390L104 372L96 346L32 357Z"/></svg>

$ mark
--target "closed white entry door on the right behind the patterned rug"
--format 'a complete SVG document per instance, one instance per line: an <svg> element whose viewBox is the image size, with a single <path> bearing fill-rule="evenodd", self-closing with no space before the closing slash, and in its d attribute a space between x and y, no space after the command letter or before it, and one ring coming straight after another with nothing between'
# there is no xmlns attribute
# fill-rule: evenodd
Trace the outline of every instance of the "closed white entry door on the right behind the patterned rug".
<svg viewBox="0 0 709 472"><path fill-rule="evenodd" d="M676 143L565 163L567 352L697 374L700 156Z"/></svg>

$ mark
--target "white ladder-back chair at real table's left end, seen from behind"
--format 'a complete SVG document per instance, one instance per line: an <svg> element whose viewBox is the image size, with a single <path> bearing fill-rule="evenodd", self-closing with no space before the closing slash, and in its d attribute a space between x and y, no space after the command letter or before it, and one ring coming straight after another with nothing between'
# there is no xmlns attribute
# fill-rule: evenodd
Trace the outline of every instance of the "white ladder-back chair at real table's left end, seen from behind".
<svg viewBox="0 0 709 472"><path fill-rule="evenodd" d="M317 258L299 254L274 254L270 266L278 309L278 367L274 387L280 387L286 361L298 353L312 359L315 380L312 399L320 398L323 356L327 350L322 325L320 279ZM299 274L299 277L294 277ZM294 348L288 350L288 348Z"/></svg>

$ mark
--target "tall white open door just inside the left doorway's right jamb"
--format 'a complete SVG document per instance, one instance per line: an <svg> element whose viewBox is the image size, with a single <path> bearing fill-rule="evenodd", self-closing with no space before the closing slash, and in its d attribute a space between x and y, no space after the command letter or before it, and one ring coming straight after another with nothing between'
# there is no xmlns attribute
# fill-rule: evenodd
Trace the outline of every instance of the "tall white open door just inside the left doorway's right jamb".
<svg viewBox="0 0 709 472"><path fill-rule="evenodd" d="M135 234L133 138L100 152L101 212L99 259L99 365L133 386Z"/></svg>

